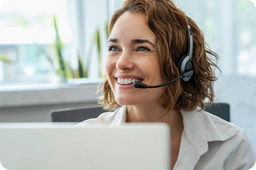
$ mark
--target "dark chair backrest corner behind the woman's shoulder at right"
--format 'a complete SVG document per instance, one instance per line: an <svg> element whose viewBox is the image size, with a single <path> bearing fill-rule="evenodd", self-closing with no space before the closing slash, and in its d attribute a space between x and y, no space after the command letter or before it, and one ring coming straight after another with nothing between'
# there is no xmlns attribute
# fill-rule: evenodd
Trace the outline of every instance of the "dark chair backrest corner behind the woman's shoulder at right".
<svg viewBox="0 0 256 170"><path fill-rule="evenodd" d="M230 106L228 103L207 105L205 111L230 122Z"/></svg>

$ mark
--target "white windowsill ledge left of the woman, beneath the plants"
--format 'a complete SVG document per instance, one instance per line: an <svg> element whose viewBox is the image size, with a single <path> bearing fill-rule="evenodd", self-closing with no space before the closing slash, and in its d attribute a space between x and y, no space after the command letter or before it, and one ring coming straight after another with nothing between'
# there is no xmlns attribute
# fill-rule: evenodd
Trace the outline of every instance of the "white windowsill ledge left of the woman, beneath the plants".
<svg viewBox="0 0 256 170"><path fill-rule="evenodd" d="M0 109L24 105L98 101L100 79L74 79L60 84L0 86Z"/></svg>

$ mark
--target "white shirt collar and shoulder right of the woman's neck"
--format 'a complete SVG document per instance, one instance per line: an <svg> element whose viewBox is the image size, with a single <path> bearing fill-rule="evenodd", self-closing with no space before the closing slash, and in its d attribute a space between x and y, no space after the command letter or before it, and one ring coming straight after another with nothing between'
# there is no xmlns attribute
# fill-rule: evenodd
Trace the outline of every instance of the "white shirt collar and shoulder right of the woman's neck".
<svg viewBox="0 0 256 170"><path fill-rule="evenodd" d="M255 169L251 143L242 128L200 109L182 116L185 133L200 155L195 169Z"/></svg>

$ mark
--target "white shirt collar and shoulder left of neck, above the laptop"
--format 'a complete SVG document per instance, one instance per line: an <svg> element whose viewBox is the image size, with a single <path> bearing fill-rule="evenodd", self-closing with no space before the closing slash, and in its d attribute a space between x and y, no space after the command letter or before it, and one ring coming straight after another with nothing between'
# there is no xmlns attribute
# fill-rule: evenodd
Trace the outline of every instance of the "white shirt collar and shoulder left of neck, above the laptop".
<svg viewBox="0 0 256 170"><path fill-rule="evenodd" d="M75 127L83 127L88 125L109 125L120 124L126 121L126 107L118 108L114 112L105 112L97 118L87 119L78 123Z"/></svg>

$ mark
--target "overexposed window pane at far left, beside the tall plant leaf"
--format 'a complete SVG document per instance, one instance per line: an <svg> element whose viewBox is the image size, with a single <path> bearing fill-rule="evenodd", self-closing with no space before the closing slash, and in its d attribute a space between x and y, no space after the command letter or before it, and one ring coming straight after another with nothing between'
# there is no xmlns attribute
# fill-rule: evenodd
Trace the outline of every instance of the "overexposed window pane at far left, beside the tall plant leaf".
<svg viewBox="0 0 256 170"><path fill-rule="evenodd" d="M0 82L46 82L57 78L56 17L61 39L71 40L69 1L0 1Z"/></svg>

